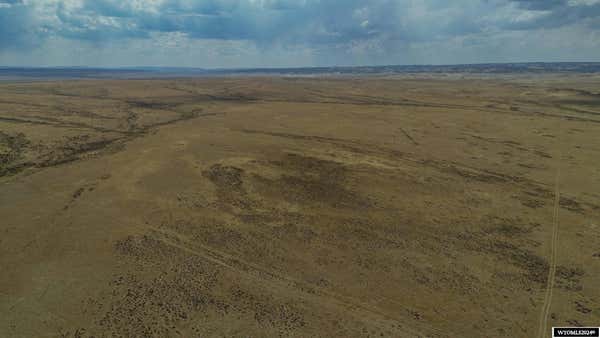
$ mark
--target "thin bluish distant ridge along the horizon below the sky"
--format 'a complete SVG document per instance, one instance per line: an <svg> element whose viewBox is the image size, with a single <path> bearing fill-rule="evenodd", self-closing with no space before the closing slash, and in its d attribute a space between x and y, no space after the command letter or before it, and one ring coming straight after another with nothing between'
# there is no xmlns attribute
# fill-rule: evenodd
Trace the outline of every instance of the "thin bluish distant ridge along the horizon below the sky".
<svg viewBox="0 0 600 338"><path fill-rule="evenodd" d="M185 67L0 67L4 79L153 78L219 75L385 75L410 73L600 73L600 62L482 63L291 68L203 69Z"/></svg>

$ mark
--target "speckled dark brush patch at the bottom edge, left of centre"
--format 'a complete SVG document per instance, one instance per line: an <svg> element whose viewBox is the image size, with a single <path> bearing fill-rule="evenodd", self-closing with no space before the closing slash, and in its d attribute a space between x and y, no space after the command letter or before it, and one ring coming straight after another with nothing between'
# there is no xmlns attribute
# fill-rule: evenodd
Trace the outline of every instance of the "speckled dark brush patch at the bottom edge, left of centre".
<svg viewBox="0 0 600 338"><path fill-rule="evenodd" d="M198 315L233 315L289 336L306 325L294 304L241 287L224 288L221 267L149 235L129 236L115 245L137 269L117 275L110 294L86 304L94 326L108 336L204 336ZM153 266L159 267L159 269ZM184 331L185 330L185 331Z"/></svg>

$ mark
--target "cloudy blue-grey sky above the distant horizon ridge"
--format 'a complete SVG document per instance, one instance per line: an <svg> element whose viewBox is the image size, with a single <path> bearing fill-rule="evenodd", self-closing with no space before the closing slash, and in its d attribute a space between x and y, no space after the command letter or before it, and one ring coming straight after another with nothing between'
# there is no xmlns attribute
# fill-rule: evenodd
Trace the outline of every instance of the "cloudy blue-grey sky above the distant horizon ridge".
<svg viewBox="0 0 600 338"><path fill-rule="evenodd" d="M0 0L0 66L600 61L600 0Z"/></svg>

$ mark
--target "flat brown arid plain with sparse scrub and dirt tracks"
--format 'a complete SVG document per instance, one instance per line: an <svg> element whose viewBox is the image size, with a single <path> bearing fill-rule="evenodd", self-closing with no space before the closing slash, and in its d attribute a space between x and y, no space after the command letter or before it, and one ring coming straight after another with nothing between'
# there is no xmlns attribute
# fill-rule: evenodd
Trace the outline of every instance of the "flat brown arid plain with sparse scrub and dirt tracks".
<svg viewBox="0 0 600 338"><path fill-rule="evenodd" d="M600 76L0 84L1 337L600 325Z"/></svg>

